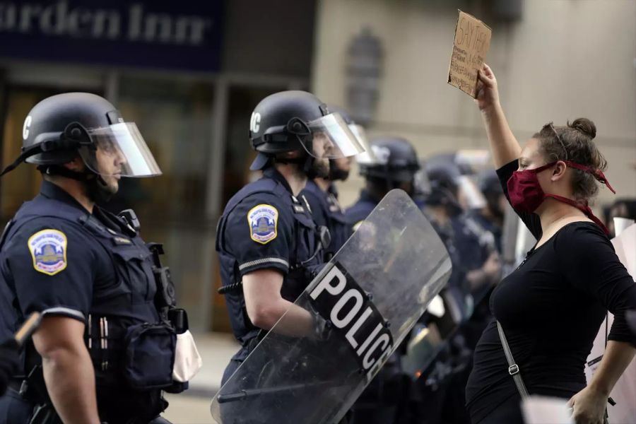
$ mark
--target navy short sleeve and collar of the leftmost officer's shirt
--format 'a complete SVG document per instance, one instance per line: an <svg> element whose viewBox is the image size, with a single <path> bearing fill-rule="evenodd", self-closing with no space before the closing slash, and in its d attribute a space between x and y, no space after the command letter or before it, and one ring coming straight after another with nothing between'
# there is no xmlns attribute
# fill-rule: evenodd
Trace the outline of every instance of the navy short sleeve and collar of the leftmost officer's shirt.
<svg viewBox="0 0 636 424"><path fill-rule="evenodd" d="M70 194L47 181L33 202L45 199L88 214ZM49 214L17 229L6 240L1 259L3 277L25 316L42 312L86 322L94 291L117 285L112 260L101 245L79 225Z"/></svg>

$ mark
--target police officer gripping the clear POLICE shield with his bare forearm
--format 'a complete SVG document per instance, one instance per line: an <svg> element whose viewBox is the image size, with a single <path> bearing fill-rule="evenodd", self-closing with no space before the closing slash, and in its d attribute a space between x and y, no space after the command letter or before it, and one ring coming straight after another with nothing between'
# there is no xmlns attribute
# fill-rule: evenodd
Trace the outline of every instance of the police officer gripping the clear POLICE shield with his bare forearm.
<svg viewBox="0 0 636 424"><path fill-rule="evenodd" d="M225 369L225 383L264 331L287 312L287 336L311 336L312 315L293 305L322 264L329 237L319 237L309 206L299 196L307 179L327 177L329 159L360 153L342 117L316 96L283 91L259 102L249 139L258 151L252 170L263 177L247 184L225 206L216 249L230 323L242 344ZM240 408L222 411L240 423ZM230 412L228 412L230 411ZM228 415L229 414L229 415Z"/></svg>

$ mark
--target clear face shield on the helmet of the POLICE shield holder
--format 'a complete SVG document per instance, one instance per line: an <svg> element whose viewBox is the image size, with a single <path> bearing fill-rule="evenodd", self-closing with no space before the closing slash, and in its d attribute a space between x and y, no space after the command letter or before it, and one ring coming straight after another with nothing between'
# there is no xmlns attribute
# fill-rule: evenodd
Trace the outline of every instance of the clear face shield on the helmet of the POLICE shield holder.
<svg viewBox="0 0 636 424"><path fill-rule="evenodd" d="M358 137L353 134L338 113L326 114L324 117L307 122L305 126L312 134L311 139L305 137L298 139L305 151L314 158L348 158L365 151L365 146L360 143Z"/></svg>

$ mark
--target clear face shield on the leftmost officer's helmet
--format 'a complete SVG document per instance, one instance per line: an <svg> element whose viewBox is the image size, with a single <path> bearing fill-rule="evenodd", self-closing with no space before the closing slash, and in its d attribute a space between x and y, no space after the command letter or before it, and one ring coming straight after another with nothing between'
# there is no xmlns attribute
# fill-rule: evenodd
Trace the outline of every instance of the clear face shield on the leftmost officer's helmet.
<svg viewBox="0 0 636 424"><path fill-rule="evenodd" d="M86 129L91 146L79 153L88 169L104 177L154 177L161 175L146 141L134 122Z"/></svg>

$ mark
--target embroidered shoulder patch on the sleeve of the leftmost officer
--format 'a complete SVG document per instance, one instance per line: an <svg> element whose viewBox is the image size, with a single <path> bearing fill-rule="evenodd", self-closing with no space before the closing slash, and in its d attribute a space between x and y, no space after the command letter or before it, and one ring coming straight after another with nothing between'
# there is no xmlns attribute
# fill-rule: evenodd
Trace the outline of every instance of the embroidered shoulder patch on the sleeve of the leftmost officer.
<svg viewBox="0 0 636 424"><path fill-rule="evenodd" d="M66 235L59 230L42 230L29 237L29 252L35 271L54 276L66 268Z"/></svg>

